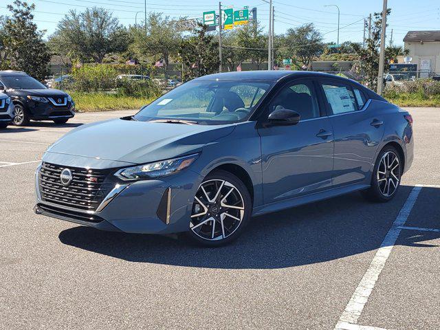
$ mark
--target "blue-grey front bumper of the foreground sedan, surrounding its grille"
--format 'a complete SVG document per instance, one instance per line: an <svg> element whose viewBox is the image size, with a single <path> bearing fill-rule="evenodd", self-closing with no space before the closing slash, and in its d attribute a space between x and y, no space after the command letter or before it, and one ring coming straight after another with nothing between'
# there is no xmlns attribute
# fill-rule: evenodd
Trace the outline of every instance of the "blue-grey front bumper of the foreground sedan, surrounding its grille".
<svg viewBox="0 0 440 330"><path fill-rule="evenodd" d="M45 161L49 162L47 159ZM69 162L63 165L69 166ZM126 184L101 209L85 212L43 201L39 192L38 171L39 168L36 171L34 209L37 214L100 230L141 234L170 234L188 230L192 202L201 182L201 176L189 169L162 179L135 181Z"/></svg>

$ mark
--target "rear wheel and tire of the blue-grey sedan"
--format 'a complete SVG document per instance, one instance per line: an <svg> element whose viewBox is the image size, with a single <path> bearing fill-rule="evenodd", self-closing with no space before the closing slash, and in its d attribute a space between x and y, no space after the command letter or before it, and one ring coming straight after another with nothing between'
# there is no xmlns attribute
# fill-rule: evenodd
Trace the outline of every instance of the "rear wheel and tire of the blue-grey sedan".
<svg viewBox="0 0 440 330"><path fill-rule="evenodd" d="M386 146L377 156L371 187L362 191L369 201L391 201L399 191L403 159L393 146Z"/></svg>

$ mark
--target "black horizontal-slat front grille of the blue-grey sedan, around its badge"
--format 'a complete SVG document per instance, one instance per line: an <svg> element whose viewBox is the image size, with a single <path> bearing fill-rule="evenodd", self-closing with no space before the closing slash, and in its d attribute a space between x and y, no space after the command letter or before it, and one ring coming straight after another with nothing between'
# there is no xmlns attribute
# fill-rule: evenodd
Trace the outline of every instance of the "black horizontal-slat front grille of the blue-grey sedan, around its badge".
<svg viewBox="0 0 440 330"><path fill-rule="evenodd" d="M72 171L72 182L69 186L61 184L61 171L69 168ZM59 166L43 162L39 173L41 200L76 210L95 211L114 184L104 183L109 170L92 170Z"/></svg>

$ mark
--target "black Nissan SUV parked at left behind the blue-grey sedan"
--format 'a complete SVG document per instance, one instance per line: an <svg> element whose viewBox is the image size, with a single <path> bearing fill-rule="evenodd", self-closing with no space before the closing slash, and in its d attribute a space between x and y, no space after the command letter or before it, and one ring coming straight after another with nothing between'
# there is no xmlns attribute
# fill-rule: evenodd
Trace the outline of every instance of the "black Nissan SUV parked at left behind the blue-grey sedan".
<svg viewBox="0 0 440 330"><path fill-rule="evenodd" d="M25 126L30 120L52 120L65 124L75 115L72 97L58 89L48 89L38 80L19 71L0 71L0 91L12 98L12 124Z"/></svg>

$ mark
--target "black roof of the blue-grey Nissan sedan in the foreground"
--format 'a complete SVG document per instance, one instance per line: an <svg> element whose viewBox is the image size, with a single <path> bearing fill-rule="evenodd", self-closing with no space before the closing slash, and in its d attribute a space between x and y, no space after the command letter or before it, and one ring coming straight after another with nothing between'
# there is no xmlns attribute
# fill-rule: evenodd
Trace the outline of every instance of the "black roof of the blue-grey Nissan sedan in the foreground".
<svg viewBox="0 0 440 330"><path fill-rule="evenodd" d="M270 80L278 81L286 76L296 76L296 77L311 77L311 76L323 76L331 78L341 78L334 74L325 74L322 72L313 71L287 71L287 70L260 70L260 71L242 71L242 72L224 72L221 74L208 74L208 76L203 76L196 78L195 80ZM341 78L344 79L344 78Z"/></svg>

